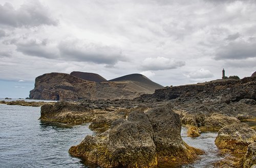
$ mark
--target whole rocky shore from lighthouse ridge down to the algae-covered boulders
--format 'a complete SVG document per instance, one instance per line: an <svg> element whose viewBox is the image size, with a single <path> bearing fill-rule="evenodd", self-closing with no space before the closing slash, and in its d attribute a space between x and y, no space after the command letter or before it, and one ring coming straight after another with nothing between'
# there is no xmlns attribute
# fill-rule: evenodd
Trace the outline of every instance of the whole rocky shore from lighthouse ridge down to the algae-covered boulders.
<svg viewBox="0 0 256 168"><path fill-rule="evenodd" d="M166 87L134 99L56 102L41 106L41 121L90 122L95 136L86 136L71 155L102 167L154 167L187 164L203 151L180 136L218 132L216 145L224 159L216 167L256 166L256 77L216 80ZM250 125L242 122L255 123ZM228 156L227 156L228 154Z"/></svg>

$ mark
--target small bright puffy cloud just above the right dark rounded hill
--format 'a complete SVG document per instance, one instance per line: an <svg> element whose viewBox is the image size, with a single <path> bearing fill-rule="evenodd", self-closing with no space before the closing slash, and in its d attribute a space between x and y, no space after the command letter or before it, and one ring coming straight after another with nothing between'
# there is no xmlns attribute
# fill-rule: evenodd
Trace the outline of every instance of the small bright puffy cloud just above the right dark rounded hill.
<svg viewBox="0 0 256 168"><path fill-rule="evenodd" d="M178 61L175 59L168 59L164 57L157 57L157 58L146 58L142 64L142 70L166 70L166 69L176 69L181 66L184 66L184 61Z"/></svg>

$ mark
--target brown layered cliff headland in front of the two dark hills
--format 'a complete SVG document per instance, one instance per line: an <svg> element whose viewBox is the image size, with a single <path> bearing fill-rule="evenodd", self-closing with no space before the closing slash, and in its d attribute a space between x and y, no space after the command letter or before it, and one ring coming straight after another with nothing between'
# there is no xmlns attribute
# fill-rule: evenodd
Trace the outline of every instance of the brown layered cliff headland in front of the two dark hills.
<svg viewBox="0 0 256 168"><path fill-rule="evenodd" d="M144 78L143 76L141 76ZM153 82L154 83L154 82ZM152 94L160 85L139 81L88 81L66 73L47 73L36 77L30 99L72 100L78 99L133 99L142 94Z"/></svg>

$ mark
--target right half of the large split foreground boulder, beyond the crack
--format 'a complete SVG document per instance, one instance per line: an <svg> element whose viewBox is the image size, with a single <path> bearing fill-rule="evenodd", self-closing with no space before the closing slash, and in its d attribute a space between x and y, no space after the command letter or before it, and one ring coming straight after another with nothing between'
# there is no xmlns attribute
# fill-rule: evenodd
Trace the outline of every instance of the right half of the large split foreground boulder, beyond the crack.
<svg viewBox="0 0 256 168"><path fill-rule="evenodd" d="M189 147L181 138L181 122L169 104L147 112L154 129L154 143L159 162L189 163L202 151ZM202 154L202 153L201 153Z"/></svg>

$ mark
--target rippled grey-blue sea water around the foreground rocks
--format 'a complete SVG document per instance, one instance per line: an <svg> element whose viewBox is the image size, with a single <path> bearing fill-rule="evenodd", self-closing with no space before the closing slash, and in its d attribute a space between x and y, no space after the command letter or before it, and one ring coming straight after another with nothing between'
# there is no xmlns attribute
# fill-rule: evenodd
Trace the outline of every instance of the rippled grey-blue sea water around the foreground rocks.
<svg viewBox="0 0 256 168"><path fill-rule="evenodd" d="M0 104L0 167L90 167L68 153L86 135L94 134L88 124L46 123L39 117L40 107ZM221 159L214 144L217 133L191 138L182 128L181 136L188 145L206 154L194 164L159 167L213 167L212 163Z"/></svg>

